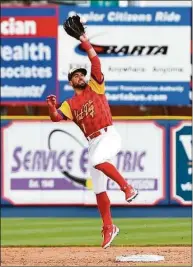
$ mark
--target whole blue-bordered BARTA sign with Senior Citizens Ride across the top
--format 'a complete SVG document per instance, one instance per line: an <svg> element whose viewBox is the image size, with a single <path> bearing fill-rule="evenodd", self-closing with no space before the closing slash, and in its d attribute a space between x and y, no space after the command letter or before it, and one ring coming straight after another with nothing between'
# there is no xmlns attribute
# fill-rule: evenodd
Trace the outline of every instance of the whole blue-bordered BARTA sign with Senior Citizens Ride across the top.
<svg viewBox="0 0 193 267"><path fill-rule="evenodd" d="M73 95L67 74L91 63L62 24L78 14L97 52L111 105L189 105L191 9L129 7L59 9L59 100ZM179 27L180 26L180 27Z"/></svg>

